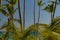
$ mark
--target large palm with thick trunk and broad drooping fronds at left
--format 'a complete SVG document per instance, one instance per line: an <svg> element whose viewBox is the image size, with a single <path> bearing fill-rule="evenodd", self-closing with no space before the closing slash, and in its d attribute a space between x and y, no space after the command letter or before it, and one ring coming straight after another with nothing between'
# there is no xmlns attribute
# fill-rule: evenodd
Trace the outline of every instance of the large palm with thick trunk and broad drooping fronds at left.
<svg viewBox="0 0 60 40"><path fill-rule="evenodd" d="M5 0L6 2L8 2L8 4L4 4L5 8L7 9L7 11L3 8L0 9L0 11L2 12L2 14L4 14L5 16L9 16L8 18L8 25L10 26L10 28L15 28L14 27L14 23L13 23L13 14L16 11L16 9L14 9L14 5L16 4L17 0ZM12 31L12 29L9 29ZM9 31L8 31L9 32ZM7 34L7 33L6 33ZM6 40L6 38L4 37L4 40Z"/></svg>

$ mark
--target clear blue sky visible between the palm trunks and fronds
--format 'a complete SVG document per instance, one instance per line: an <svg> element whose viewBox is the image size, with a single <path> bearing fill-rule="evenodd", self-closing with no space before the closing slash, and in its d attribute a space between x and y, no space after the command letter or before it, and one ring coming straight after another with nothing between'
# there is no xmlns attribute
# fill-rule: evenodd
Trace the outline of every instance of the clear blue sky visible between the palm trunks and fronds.
<svg viewBox="0 0 60 40"><path fill-rule="evenodd" d="M45 2L45 6L48 4L48 0L43 0L43 2ZM6 2L2 2L3 4L5 4ZM22 18L23 18L23 0L20 0L20 3L21 3L21 14L22 14ZM50 24L50 13L46 12L43 10L43 8L45 6L42 6L41 7L41 17L40 17L40 23L44 23L44 24ZM15 8L17 8L18 5L16 4ZM26 18L25 18L25 27L28 27L30 25L33 24L33 8L34 7L34 0L26 0ZM37 18L38 18L38 5L37 5L37 2L36 2L36 7L35 7L35 16L36 16L36 22L37 22ZM60 16L60 5L57 6L56 8L56 14L55 14L55 17L56 16ZM15 12L14 14L14 18L16 19L19 19L19 14L18 14L18 10ZM0 19L2 19L0 21L0 26L2 26L4 23L7 22L7 17L5 17L1 12L0 12ZM14 22L16 24L16 26L19 27L19 23L17 22Z"/></svg>

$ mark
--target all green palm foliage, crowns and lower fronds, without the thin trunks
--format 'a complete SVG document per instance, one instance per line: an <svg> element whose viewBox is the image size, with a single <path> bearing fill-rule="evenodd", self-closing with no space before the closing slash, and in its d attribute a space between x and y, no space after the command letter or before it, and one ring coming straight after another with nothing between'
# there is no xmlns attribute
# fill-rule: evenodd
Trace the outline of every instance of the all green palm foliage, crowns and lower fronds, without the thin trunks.
<svg viewBox="0 0 60 40"><path fill-rule="evenodd" d="M8 22L0 28L0 30L6 29L3 38L0 38L0 40L9 40L10 37L13 40L60 40L60 17L54 18L51 25L36 23L34 25L30 25L28 28L21 32L13 23L13 21L20 23L19 19L13 18L14 13L18 9L14 9L18 0L5 1L7 4L1 5L0 12L4 14L4 16L9 16L9 18ZM44 3L42 3L42 1L38 1L38 6L43 4ZM44 10L52 13L54 11L54 2L45 7ZM34 31L36 32L37 36ZM34 35L32 35L32 32Z"/></svg>

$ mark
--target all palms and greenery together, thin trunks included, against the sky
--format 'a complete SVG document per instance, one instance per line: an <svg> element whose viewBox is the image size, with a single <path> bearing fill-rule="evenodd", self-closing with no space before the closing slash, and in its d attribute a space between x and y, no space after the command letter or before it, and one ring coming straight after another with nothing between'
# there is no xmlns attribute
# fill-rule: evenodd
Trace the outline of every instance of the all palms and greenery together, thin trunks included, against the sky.
<svg viewBox="0 0 60 40"><path fill-rule="evenodd" d="M3 36L0 35L0 40L60 40L60 17L55 16L55 10L57 4L60 3L60 0L56 1L48 1L49 4L46 6L43 11L47 11L51 13L51 23L42 24L39 23L40 15L41 15L41 6L45 5L42 0L34 0L34 11L33 11L33 20L34 24L30 25L28 28L25 29L25 0L24 0L24 11L23 17L21 13L21 6L20 0L4 0L7 4L2 4L2 0L0 0L0 12L8 17L8 21L0 27L0 30L5 29L6 31L3 32ZM15 8L16 4L18 3L18 7ZM39 7L38 11L38 21L35 22L35 3L37 3ZM18 10L19 19L14 18L14 13ZM23 19L23 20L22 20ZM1 19L0 19L1 21ZM14 21L19 22L20 30L18 30L14 24Z"/></svg>

